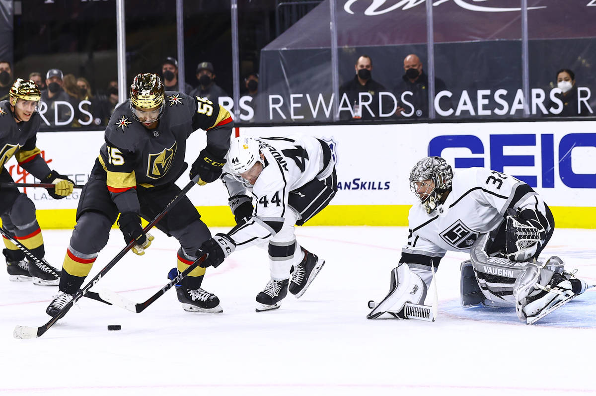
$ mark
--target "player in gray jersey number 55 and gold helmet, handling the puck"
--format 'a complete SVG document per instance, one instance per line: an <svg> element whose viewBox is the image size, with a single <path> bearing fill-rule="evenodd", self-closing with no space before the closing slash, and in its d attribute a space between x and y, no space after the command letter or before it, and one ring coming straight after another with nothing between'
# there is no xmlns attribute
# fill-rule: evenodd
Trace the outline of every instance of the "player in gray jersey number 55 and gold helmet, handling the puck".
<svg viewBox="0 0 596 396"><path fill-rule="evenodd" d="M229 148L232 118L228 111L204 98L164 91L153 73L135 76L131 98L114 110L105 129L105 144L81 193L60 293L46 310L49 315L57 314L82 285L118 214L125 242L135 241L132 251L144 254L153 237L143 232L141 216L151 221L181 192L174 182L185 171L187 138L199 128L206 131L207 146L193 163L190 178L200 175L200 181L213 182L221 175ZM181 271L195 261L194 253L211 237L200 217L190 199L183 197L157 223L157 228L180 242L176 258ZM176 288L178 299L186 311L219 313L218 297L201 287L204 273L204 268L191 271Z"/></svg>

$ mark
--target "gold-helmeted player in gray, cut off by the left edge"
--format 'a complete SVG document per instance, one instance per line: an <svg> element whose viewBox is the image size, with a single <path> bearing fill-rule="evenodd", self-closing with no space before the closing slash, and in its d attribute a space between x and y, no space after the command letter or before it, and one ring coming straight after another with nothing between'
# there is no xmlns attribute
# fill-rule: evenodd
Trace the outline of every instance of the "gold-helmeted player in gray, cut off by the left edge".
<svg viewBox="0 0 596 396"><path fill-rule="evenodd" d="M54 199L61 199L73 192L75 185L68 177L48 168L41 150L36 146L41 123L38 104L41 92L33 81L17 79L11 86L10 100L0 102L0 182L14 182L5 163L15 157L18 165L41 180L54 184L48 189ZM35 216L35 205L12 185L0 185L0 216L2 227L38 258L45 255L44 239ZM30 281L41 286L56 286L58 277L38 267L10 240L4 239L8 278L13 281Z"/></svg>

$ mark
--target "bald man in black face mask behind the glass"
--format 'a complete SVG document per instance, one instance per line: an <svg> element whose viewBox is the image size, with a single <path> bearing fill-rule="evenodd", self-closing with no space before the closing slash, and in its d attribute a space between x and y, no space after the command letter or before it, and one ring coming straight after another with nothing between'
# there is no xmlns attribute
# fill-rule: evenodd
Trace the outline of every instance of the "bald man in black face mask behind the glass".
<svg viewBox="0 0 596 396"><path fill-rule="evenodd" d="M398 117L426 118L429 116L429 76L422 69L422 62L418 55L409 54L403 59L403 74L401 80L393 88L395 96L399 99L404 91L404 100L411 106L398 106L395 115ZM446 89L445 82L440 78L434 79L434 92ZM413 107L413 109L412 109Z"/></svg>

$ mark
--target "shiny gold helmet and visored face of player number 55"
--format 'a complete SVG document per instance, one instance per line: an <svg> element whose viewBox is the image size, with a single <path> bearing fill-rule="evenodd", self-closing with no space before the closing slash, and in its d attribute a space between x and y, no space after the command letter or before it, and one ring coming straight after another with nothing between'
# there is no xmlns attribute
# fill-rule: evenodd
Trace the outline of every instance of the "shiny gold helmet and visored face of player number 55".
<svg viewBox="0 0 596 396"><path fill-rule="evenodd" d="M163 115L166 107L165 89L162 79L154 73L141 73L131 84L132 116L139 122L155 122Z"/></svg>

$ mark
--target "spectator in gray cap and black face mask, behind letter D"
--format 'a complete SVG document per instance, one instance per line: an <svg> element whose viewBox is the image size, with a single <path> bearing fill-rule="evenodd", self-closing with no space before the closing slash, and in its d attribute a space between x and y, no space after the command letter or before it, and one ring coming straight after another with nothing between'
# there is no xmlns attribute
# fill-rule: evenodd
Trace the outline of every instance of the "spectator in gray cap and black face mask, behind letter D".
<svg viewBox="0 0 596 396"><path fill-rule="evenodd" d="M40 112L44 115L45 119L48 120L49 126L61 126L66 128L67 124L75 119L72 114L72 109L65 103L57 102L68 102L73 106L75 99L64 91L62 86L64 75L60 69L49 69L45 75L45 85L48 89L41 92L41 106ZM44 106L47 106L44 109ZM70 120L70 121L69 121ZM68 123L66 123L69 121Z"/></svg>

